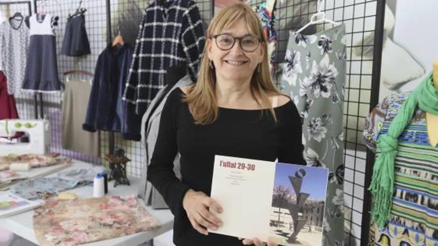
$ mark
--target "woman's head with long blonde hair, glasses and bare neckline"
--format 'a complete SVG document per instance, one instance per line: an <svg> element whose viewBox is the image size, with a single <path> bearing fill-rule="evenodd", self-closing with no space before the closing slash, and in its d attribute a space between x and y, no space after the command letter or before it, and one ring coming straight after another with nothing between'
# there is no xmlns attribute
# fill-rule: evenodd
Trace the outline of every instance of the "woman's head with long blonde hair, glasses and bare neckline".
<svg viewBox="0 0 438 246"><path fill-rule="evenodd" d="M217 95L218 87L219 91L249 88L248 97L239 93L236 104L246 109L268 108L275 118L269 97L280 92L269 73L266 36L254 11L242 3L224 8L213 19L206 38L198 83L189 88L186 97L195 121L214 122L218 106L236 108L230 98Z"/></svg>

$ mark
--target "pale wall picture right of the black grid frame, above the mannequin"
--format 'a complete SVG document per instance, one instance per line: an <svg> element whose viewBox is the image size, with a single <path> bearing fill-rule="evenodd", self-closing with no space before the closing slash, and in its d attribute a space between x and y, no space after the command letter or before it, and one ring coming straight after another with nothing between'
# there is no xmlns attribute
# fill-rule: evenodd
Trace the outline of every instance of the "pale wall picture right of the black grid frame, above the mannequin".
<svg viewBox="0 0 438 246"><path fill-rule="evenodd" d="M438 1L387 3L385 31L390 35L384 40L379 101L392 93L413 90L438 59L438 33L433 28L438 25Z"/></svg>

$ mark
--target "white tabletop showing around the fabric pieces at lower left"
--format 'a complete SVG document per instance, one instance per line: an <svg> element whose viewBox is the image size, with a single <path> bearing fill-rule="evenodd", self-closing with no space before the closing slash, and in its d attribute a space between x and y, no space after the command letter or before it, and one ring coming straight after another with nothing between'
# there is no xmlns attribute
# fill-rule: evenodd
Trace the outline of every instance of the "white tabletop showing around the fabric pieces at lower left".
<svg viewBox="0 0 438 246"><path fill-rule="evenodd" d="M91 164L73 160L72 166L69 168L81 168L90 167ZM53 176L51 174L49 176ZM114 181L108 183L107 195L129 195L137 194L138 186L140 184L138 178L129 177L131 185L117 185L113 187ZM74 192L81 198L93 197L93 186L82 186L69 190ZM94 242L90 244L84 244L83 246L136 246L144 242L150 241L153 243L153 238L173 229L173 215L169 209L154 210L151 207L146 207L147 211L152 214L161 224L161 227L154 231L141 232L132 234L129 236L123 236L115 239L109 239L105 241ZM10 217L0 219L0 225L2 228L9 230L10 232L34 243L38 244L32 226L33 211L27 211L20 214L16 214Z"/></svg>

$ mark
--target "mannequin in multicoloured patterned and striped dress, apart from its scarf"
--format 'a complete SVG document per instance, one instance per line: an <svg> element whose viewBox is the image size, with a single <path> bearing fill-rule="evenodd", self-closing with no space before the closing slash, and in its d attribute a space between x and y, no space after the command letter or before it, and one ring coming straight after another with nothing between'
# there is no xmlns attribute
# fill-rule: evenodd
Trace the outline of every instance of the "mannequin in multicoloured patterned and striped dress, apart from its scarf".
<svg viewBox="0 0 438 246"><path fill-rule="evenodd" d="M426 81L431 82L430 79L428 76L421 85L424 85ZM438 61L434 63L432 81L433 88L429 84L429 92L424 93L438 91ZM438 201L438 193L436 192L438 108L430 107L431 105L434 105L434 107L438 105L436 95L424 94L431 100L429 105L425 105L429 101L423 101L423 107L429 107L429 110L420 109L420 106L417 106L409 123L404 126L403 132L398 136L396 153L394 156L388 156L388 153L392 151L390 145L393 142L387 141L387 134L392 123L394 123L394 119L399 115L404 103L410 99L411 95L412 93L405 92L385 97L371 111L365 122L363 137L367 147L376 152L378 158L386 154L386 158L393 158L394 160L393 173L384 169L385 165L386 168L390 165L387 159L383 159L385 160L383 162L376 162L377 166L379 164L381 164L381 167L383 166L380 172L378 172L378 169L376 171L376 173L382 174L377 176L376 180L380 182L378 184L386 184L384 183L385 180L379 180L379 177L383 177L389 172L390 175L386 178L388 178L388 183L393 182L394 192L391 194L392 200L388 220L384 222L384 225L377 225L378 220L383 217L379 214L380 217L376 216L375 223L370 226L369 246L438 245L438 207L436 206L436 201ZM418 101L420 102L421 99L419 98ZM412 101L409 104L412 105ZM400 118L397 119L398 122L401 122ZM394 126L397 127L397 124ZM386 135L385 138L382 138L384 135ZM382 142L384 145L381 145ZM392 180L390 179L391 175ZM379 199L381 198L382 196L379 197ZM373 209L376 207L379 206L374 203ZM381 211L383 210L379 212ZM384 219L386 220L386 218Z"/></svg>

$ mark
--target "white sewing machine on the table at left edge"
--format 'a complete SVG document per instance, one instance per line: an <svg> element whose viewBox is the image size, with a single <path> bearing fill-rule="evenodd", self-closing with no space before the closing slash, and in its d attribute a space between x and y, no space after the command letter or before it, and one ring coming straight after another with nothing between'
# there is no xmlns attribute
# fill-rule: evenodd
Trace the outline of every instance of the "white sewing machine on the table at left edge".
<svg viewBox="0 0 438 246"><path fill-rule="evenodd" d="M50 152L50 125L47 120L0 120L0 137L10 139L17 132L28 135L28 143L0 141L0 156L9 154L43 155Z"/></svg>

